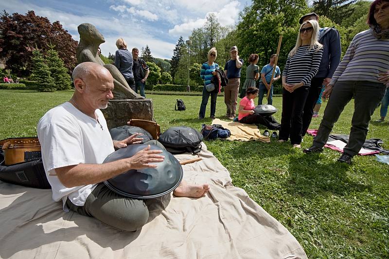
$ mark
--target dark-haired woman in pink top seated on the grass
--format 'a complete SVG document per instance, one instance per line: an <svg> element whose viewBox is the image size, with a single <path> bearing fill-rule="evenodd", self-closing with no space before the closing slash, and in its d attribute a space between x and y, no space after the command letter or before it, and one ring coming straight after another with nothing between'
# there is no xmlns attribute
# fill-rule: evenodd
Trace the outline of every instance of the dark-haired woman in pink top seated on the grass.
<svg viewBox="0 0 389 259"><path fill-rule="evenodd" d="M246 124L258 124L260 123L260 114L254 113L255 108L254 99L258 95L258 88L248 87L246 97L244 97L239 103L238 119L240 123Z"/></svg>

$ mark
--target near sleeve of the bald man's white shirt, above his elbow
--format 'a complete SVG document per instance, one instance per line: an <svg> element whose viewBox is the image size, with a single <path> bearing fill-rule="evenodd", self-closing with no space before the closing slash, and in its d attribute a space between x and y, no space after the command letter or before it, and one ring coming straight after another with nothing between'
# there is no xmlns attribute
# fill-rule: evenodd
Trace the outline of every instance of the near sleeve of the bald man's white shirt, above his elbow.
<svg viewBox="0 0 389 259"><path fill-rule="evenodd" d="M74 124L51 123L39 129L46 172L85 162L81 129Z"/></svg>

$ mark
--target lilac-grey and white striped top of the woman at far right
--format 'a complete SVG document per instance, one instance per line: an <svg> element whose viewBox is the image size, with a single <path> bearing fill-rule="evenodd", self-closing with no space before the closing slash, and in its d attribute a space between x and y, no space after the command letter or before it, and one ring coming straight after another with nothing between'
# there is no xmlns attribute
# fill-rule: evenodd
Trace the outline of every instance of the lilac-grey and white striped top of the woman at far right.
<svg viewBox="0 0 389 259"><path fill-rule="evenodd" d="M336 81L372 81L379 83L378 73L389 70L389 39L377 39L370 30L354 36L331 84Z"/></svg>

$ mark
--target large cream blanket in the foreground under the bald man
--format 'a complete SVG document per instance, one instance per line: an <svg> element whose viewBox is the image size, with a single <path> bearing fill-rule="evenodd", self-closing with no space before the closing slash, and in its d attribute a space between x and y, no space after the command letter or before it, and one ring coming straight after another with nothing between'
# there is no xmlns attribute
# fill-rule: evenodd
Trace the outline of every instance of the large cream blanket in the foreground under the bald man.
<svg viewBox="0 0 389 259"><path fill-rule="evenodd" d="M228 170L203 145L184 179L210 184L202 198L168 194L149 206L148 223L124 232L64 212L51 190L0 181L0 258L20 259L302 259L304 250L276 219L231 184ZM178 160L194 158L177 155Z"/></svg>

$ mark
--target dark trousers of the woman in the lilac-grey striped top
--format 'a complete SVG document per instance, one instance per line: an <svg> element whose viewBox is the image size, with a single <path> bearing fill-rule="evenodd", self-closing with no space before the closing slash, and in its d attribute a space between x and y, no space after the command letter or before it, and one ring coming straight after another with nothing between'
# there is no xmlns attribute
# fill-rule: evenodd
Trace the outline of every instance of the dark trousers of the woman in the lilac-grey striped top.
<svg viewBox="0 0 389 259"><path fill-rule="evenodd" d="M384 93L385 85L382 83L337 81L328 99L313 146L322 148L326 144L340 113L354 96L354 114L351 121L349 143L343 148L343 152L351 156L358 154L365 143L371 115Z"/></svg>

